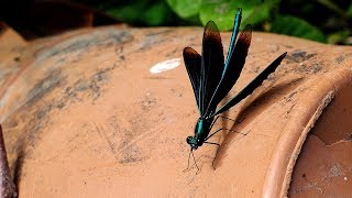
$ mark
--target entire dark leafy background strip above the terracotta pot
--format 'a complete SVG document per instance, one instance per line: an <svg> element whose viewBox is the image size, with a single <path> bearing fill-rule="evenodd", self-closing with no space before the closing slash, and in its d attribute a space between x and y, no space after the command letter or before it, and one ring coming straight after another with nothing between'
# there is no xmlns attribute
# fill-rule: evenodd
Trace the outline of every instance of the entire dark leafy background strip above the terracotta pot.
<svg viewBox="0 0 352 198"><path fill-rule="evenodd" d="M1 0L0 21L28 40L73 29L127 23L131 26L205 25L233 21L243 8L243 26L322 43L351 45L352 1L345 0ZM231 23L217 22L221 31Z"/></svg>

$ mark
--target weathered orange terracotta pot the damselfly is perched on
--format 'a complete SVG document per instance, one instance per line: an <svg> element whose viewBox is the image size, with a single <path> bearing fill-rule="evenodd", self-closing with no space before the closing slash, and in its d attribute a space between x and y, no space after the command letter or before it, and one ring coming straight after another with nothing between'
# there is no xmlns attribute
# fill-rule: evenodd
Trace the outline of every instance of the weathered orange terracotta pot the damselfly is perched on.
<svg viewBox="0 0 352 198"><path fill-rule="evenodd" d="M182 51L200 52L201 36L106 26L28 43L6 28L0 121L20 197L351 195L352 47L284 35L253 33L232 94L288 54L227 112L241 123L219 122L240 133L211 139L216 169L204 145L199 173L193 161L184 172L198 112ZM150 72L169 59L179 66Z"/></svg>

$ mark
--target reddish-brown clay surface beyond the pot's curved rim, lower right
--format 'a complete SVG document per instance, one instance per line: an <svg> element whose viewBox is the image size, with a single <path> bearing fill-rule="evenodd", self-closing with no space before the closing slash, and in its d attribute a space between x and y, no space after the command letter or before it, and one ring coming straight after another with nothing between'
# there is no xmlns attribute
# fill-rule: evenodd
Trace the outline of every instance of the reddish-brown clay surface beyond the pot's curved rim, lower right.
<svg viewBox="0 0 352 198"><path fill-rule="evenodd" d="M290 197L352 196L352 84L336 85L333 102L308 135L295 166Z"/></svg>

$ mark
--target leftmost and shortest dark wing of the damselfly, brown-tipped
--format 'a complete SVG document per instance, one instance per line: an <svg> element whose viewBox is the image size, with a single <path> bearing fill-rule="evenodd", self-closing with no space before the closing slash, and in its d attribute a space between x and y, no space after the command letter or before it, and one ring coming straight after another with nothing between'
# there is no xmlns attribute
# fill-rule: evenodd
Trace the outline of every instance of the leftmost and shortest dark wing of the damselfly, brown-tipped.
<svg viewBox="0 0 352 198"><path fill-rule="evenodd" d="M199 102L200 102L200 64L201 64L201 57L200 55L193 50L191 47L185 47L184 48L184 62L185 66L191 82L191 87L194 88L198 110Z"/></svg>

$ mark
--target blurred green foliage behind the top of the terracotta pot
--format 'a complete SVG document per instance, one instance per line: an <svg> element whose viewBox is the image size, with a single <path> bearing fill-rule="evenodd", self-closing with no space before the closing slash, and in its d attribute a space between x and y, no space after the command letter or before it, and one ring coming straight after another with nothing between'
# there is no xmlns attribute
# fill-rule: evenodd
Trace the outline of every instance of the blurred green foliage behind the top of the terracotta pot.
<svg viewBox="0 0 352 198"><path fill-rule="evenodd" d="M110 0L95 6L133 25L205 25L212 20L221 31L232 29L241 7L242 26L251 23L256 31L352 44L352 1L345 0Z"/></svg>

